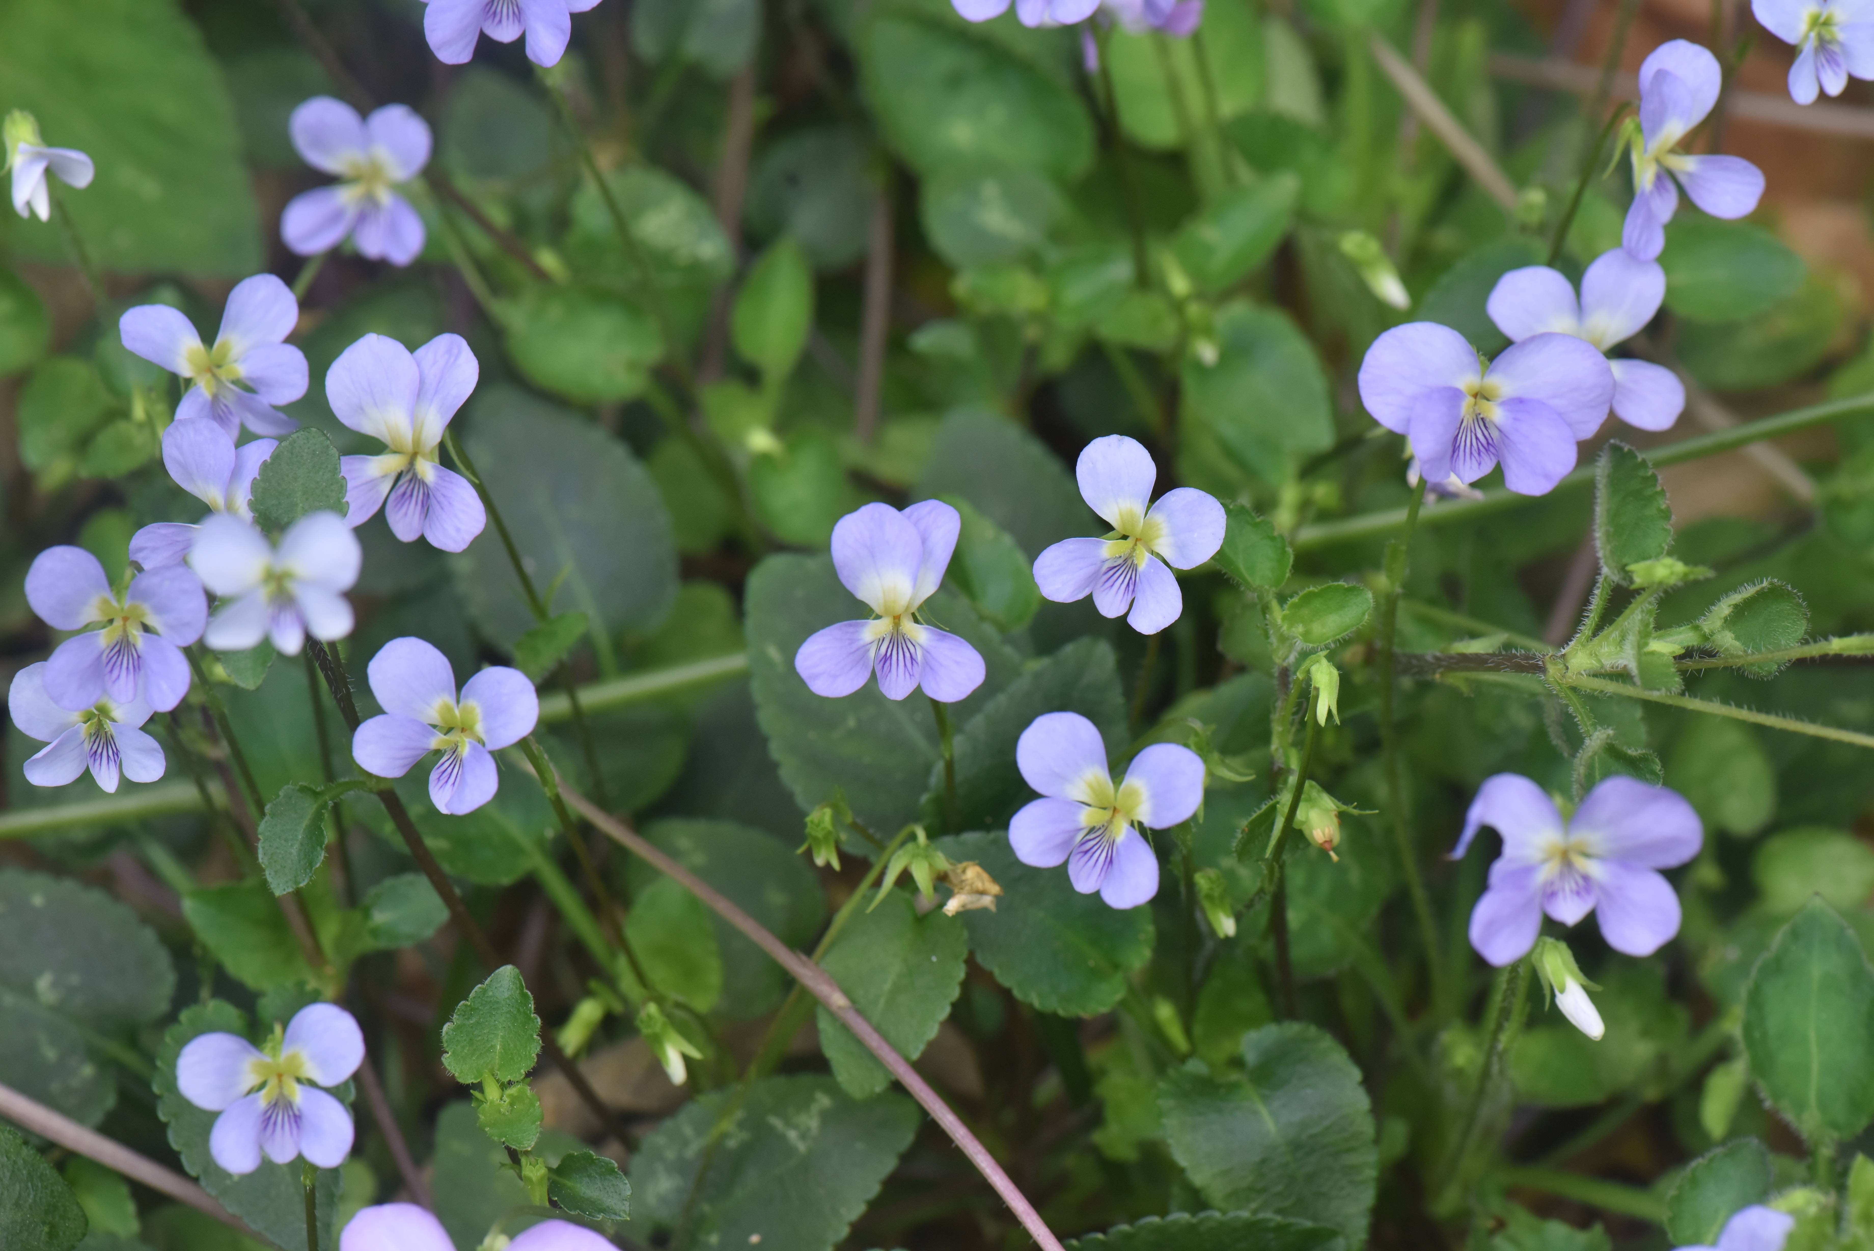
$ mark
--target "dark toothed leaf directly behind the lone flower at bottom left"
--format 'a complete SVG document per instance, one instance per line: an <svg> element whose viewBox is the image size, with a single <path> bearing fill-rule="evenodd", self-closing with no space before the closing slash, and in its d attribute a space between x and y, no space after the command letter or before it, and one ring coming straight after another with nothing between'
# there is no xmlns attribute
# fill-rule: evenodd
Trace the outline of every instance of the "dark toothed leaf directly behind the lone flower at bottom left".
<svg viewBox="0 0 1874 1251"><path fill-rule="evenodd" d="M257 887L272 908L272 897L264 887ZM214 1161L208 1150L208 1135L214 1131L219 1112L210 1112L189 1103L176 1090L176 1058L189 1039L202 1033L234 1033L247 1037L247 1017L240 1009L210 1000L208 1003L182 1009L176 1024L163 1033L163 1047L156 1054L157 1116L169 1125L169 1144L182 1157L187 1168L210 1195L244 1219L251 1230L270 1238L279 1247L305 1245L305 1187L300 1182L300 1163L275 1165L268 1159L249 1174L234 1176ZM350 1101L349 1084L332 1090L343 1103ZM319 1245L335 1247L335 1215L339 1208L339 1170L319 1170Z"/></svg>

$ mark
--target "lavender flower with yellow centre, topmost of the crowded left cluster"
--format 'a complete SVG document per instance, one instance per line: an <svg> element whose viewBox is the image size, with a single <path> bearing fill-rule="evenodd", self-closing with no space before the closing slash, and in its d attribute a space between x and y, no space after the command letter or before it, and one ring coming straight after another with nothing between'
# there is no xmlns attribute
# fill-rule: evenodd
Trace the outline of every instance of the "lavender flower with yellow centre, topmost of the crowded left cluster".
<svg viewBox="0 0 1874 1251"><path fill-rule="evenodd" d="M229 439L240 435L244 424L257 435L290 435L300 424L275 405L305 394L305 353L285 341L298 323L300 302L292 289L272 274L255 274L229 293L214 347L206 347L189 319L167 304L126 311L118 336L150 364L193 383L176 405L178 422L214 418Z"/></svg>

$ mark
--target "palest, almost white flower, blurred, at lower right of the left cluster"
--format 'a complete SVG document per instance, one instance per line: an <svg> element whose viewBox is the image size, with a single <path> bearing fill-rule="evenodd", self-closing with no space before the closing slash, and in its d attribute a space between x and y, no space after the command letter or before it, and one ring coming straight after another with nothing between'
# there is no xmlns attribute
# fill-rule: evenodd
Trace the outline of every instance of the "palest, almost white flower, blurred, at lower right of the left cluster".
<svg viewBox="0 0 1874 1251"><path fill-rule="evenodd" d="M364 551L335 512L313 512L279 538L240 518L217 512L202 521L189 548L189 568L221 596L202 641L216 651L247 651L262 638L283 656L300 655L305 636L330 643L352 628L345 591L358 581Z"/></svg>

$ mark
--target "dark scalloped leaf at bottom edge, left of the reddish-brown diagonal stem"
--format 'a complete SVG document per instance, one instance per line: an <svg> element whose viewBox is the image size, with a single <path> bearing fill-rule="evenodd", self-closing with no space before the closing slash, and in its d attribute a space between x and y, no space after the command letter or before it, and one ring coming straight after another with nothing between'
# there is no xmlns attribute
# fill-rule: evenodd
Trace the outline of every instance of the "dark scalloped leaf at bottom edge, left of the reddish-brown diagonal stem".
<svg viewBox="0 0 1874 1251"><path fill-rule="evenodd" d="M632 1155L635 1221L671 1228L684 1213L710 1133L735 1092L688 1103ZM830 1077L768 1077L710 1153L690 1228L699 1245L832 1251L918 1129L911 1099L855 1101Z"/></svg>

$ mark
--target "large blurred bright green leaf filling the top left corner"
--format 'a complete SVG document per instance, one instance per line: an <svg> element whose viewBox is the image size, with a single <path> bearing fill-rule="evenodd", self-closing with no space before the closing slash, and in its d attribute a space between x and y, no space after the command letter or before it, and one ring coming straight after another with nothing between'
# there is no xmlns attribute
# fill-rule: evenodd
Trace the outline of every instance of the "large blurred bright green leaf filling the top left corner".
<svg viewBox="0 0 1874 1251"><path fill-rule="evenodd" d="M234 105L195 23L171 0L71 0L0 9L7 107L45 143L97 167L60 186L92 259L126 274L242 278L262 266L260 223ZM21 255L67 264L56 223L7 214Z"/></svg>

